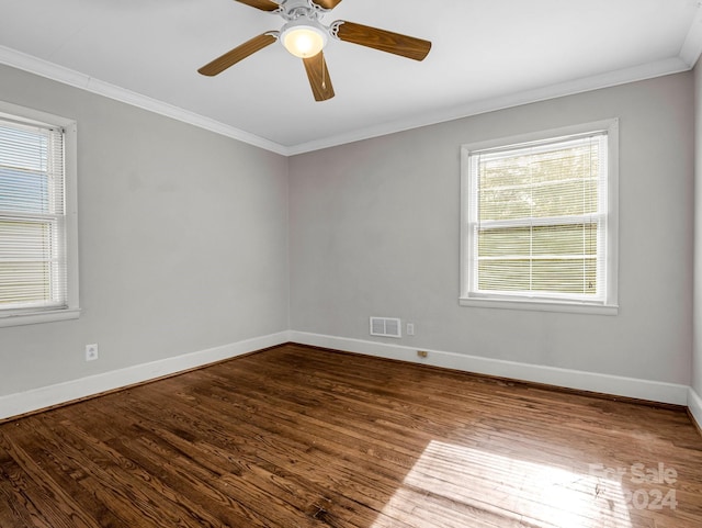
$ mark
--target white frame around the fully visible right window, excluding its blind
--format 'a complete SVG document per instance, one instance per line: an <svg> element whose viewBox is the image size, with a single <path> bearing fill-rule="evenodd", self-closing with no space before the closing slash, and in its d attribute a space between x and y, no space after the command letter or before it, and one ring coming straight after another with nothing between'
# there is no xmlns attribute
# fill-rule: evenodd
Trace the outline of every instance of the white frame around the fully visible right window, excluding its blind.
<svg viewBox="0 0 702 528"><path fill-rule="evenodd" d="M607 133L608 181L607 181L607 245L604 273L607 276L604 301L592 302L576 299L576 295L554 295L553 297L530 296L529 294L503 294L473 292L473 236L471 229L472 206L477 204L473 195L474 171L472 155L487 149L510 147L545 141L565 139L588 133ZM475 201L474 201L475 200ZM589 123L537 131L508 137L464 144L461 146L461 306L491 308L530 310L544 312L566 312L599 315L619 313L619 119L609 119Z"/></svg>

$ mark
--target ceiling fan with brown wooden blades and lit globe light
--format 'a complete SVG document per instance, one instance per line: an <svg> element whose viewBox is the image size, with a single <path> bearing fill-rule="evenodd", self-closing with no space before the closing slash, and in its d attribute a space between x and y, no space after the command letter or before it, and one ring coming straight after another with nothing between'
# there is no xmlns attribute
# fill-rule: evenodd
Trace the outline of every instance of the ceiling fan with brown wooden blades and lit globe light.
<svg viewBox="0 0 702 528"><path fill-rule="evenodd" d="M325 25L320 19L341 0L236 0L261 11L280 14L285 24L280 31L269 31L225 53L197 71L216 76L256 52L280 41L285 49L303 59L316 101L331 99L333 88L324 56L329 36L343 42L380 49L415 60L423 60L431 42L390 31L338 20Z"/></svg>

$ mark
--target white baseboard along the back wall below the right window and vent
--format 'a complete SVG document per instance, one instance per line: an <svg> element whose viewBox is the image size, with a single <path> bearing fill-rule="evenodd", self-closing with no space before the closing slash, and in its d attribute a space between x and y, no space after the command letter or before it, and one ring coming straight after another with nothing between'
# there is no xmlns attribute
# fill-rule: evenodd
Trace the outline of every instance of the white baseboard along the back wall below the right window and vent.
<svg viewBox="0 0 702 528"><path fill-rule="evenodd" d="M422 350L427 350L429 355L426 359L422 359L417 357L417 348L304 332L291 330L290 340L292 342L299 342L301 345L359 352L377 358L411 361L414 363L431 364L477 374L544 383L579 391L590 391L673 405L688 405L688 393L690 392L689 386L676 383L519 363L516 361L480 358L477 356L426 348L422 348ZM699 407L699 414L695 416L702 417L702 407Z"/></svg>

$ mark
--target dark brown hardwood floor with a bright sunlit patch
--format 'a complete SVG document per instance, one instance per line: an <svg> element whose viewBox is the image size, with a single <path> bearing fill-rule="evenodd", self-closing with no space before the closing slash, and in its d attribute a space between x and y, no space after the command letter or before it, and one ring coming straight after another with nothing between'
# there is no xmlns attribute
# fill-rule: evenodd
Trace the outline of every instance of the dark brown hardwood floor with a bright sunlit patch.
<svg viewBox="0 0 702 528"><path fill-rule="evenodd" d="M682 409L285 345L0 425L0 527L692 528Z"/></svg>

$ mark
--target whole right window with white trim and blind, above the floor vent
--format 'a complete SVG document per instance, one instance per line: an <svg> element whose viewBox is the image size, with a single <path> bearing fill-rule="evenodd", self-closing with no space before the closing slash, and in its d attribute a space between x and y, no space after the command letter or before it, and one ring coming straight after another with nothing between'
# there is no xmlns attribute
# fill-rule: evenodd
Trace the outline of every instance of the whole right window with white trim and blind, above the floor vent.
<svg viewBox="0 0 702 528"><path fill-rule="evenodd" d="M462 151L462 305L616 313L618 122Z"/></svg>

